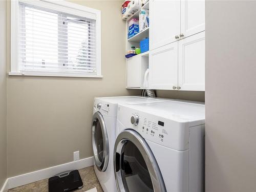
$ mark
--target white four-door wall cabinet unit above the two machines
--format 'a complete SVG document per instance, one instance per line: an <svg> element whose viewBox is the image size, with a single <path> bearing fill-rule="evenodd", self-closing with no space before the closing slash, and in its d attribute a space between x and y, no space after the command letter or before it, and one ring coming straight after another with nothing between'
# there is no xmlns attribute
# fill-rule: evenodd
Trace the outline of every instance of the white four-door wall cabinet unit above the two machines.
<svg viewBox="0 0 256 192"><path fill-rule="evenodd" d="M150 0L144 8L148 5L149 34L135 38L149 35L150 48L135 56L140 60L127 60L127 87L204 91L205 0Z"/></svg>

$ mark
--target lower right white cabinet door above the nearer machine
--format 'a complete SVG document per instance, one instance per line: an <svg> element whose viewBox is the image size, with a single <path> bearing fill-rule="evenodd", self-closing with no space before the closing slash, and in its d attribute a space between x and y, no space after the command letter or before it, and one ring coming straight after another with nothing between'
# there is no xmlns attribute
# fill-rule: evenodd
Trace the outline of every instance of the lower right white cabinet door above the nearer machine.
<svg viewBox="0 0 256 192"><path fill-rule="evenodd" d="M205 90L205 32L179 40L178 71L180 90Z"/></svg>

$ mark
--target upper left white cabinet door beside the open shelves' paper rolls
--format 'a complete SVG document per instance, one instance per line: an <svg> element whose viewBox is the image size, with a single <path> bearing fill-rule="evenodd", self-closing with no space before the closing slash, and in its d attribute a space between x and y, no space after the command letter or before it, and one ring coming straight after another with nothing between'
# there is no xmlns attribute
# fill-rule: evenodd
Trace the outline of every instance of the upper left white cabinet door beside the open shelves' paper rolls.
<svg viewBox="0 0 256 192"><path fill-rule="evenodd" d="M174 42L180 34L180 1L150 1L150 49Z"/></svg>

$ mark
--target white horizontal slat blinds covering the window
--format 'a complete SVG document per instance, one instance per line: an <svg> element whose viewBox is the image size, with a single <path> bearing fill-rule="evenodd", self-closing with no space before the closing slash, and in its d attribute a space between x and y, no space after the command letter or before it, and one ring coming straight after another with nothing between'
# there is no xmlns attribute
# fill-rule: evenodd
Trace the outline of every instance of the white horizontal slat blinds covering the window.
<svg viewBox="0 0 256 192"><path fill-rule="evenodd" d="M19 3L19 71L96 75L96 20Z"/></svg>

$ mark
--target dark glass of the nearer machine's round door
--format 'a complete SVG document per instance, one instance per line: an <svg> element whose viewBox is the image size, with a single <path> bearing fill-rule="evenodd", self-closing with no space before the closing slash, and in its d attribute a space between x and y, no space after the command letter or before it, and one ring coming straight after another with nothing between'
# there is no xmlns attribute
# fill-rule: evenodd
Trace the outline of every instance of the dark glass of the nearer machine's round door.
<svg viewBox="0 0 256 192"><path fill-rule="evenodd" d="M122 150L121 174L125 191L153 192L153 183L146 163L136 145L127 141Z"/></svg>

